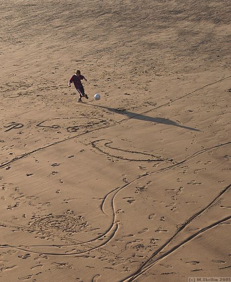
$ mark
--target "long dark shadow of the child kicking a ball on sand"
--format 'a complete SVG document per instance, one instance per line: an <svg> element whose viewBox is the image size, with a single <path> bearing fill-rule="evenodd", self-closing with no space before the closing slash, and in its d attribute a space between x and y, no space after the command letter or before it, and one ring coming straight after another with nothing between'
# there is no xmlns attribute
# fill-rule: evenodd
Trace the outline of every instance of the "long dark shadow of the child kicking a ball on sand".
<svg viewBox="0 0 231 282"><path fill-rule="evenodd" d="M147 121L147 122L152 122L152 123L169 124L169 125L174 125L174 126L178 126L178 127L181 127L181 128L193 130L193 131L201 131L201 130L193 128L193 127L178 124L178 123L171 121L169 119L158 118L158 117L153 118L153 117L149 117L149 116L144 116L142 114L136 114L136 113L133 113L133 112L126 111L126 109L116 109L116 108L110 108L110 107L106 107L106 106L93 105L93 104L89 104L89 103L86 103L86 104L91 105L91 106L104 108L104 109L107 109L107 110L112 111L114 113L121 114L121 115L127 116L127 117L132 118L132 119L137 119L137 120L142 120L142 121Z"/></svg>

